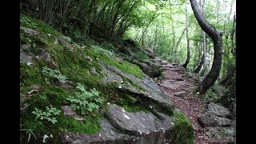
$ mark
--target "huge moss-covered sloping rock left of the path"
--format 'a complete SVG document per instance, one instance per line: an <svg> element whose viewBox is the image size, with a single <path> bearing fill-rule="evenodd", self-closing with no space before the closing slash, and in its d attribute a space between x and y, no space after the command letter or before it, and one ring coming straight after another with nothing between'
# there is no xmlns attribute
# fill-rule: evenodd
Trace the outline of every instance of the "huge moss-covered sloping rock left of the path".
<svg viewBox="0 0 256 144"><path fill-rule="evenodd" d="M20 20L22 143L193 143L190 122L140 60L126 62L91 39L75 43L35 18Z"/></svg>

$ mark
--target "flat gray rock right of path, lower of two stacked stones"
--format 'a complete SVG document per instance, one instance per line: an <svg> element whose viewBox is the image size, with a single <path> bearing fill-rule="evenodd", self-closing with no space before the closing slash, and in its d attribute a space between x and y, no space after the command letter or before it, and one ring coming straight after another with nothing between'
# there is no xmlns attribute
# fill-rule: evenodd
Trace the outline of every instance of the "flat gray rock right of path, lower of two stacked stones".
<svg viewBox="0 0 256 144"><path fill-rule="evenodd" d="M214 114L202 114L198 118L198 122L202 124L202 126L230 126L230 119L228 118L221 118Z"/></svg>

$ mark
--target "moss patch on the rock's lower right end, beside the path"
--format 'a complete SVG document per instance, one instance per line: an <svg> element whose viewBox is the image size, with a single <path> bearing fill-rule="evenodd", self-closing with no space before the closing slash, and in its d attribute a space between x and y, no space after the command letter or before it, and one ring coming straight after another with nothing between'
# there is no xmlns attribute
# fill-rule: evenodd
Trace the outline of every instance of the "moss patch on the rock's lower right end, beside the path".
<svg viewBox="0 0 256 144"><path fill-rule="evenodd" d="M191 122L181 112L175 112L174 117L174 134L175 144L194 143L194 130Z"/></svg>

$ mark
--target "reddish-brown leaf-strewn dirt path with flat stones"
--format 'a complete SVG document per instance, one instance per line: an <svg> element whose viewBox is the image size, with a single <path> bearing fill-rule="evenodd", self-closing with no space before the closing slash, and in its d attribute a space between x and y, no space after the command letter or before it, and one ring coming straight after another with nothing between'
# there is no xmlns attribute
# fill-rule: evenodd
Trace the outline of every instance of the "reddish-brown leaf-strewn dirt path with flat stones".
<svg viewBox="0 0 256 144"><path fill-rule="evenodd" d="M193 78L189 76L189 71L182 66L162 62L164 68L163 79L158 80L158 86L164 90L178 110L181 110L190 119L194 128L194 143L203 144L207 142L202 126L198 123L198 117L205 110L205 105L201 98L193 95L194 87L197 86ZM190 73L191 74L191 73ZM185 97L178 97L174 94L178 92L186 93Z"/></svg>

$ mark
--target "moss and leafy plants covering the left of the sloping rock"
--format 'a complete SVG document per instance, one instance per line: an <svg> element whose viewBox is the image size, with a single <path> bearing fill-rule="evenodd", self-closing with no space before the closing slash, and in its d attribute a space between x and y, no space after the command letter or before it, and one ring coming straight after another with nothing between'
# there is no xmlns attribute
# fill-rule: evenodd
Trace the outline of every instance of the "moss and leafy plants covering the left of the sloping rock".
<svg viewBox="0 0 256 144"><path fill-rule="evenodd" d="M116 60L115 54L95 46L96 42L76 44L38 19L21 14L20 20L22 52L31 58L20 65L21 142L58 142L66 132L96 134L101 130L99 119L103 116L98 111L106 108L106 102L120 98L114 83L101 82L104 75L99 60L138 78L146 76L138 66ZM78 83L84 86L80 96ZM98 100L102 99L99 103L89 98L96 93ZM88 107L82 110L82 105L75 105L79 102L88 102ZM62 106L66 105L73 106L85 120L65 115Z"/></svg>

